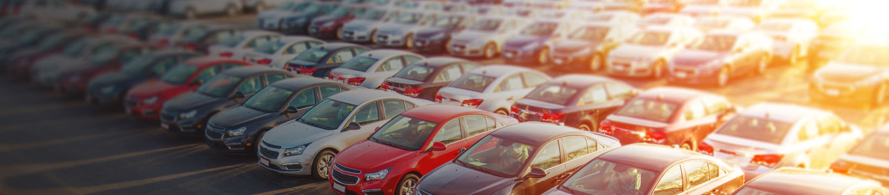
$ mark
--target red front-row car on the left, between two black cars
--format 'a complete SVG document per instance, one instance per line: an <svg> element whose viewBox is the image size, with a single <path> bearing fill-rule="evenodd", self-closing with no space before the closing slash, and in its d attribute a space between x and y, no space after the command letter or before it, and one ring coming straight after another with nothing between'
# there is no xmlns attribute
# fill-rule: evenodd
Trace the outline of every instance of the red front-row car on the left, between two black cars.
<svg viewBox="0 0 889 195"><path fill-rule="evenodd" d="M167 100L190 92L226 69L250 66L246 61L221 57L196 57L173 67L159 80L135 85L124 96L124 110L136 118L157 119Z"/></svg>

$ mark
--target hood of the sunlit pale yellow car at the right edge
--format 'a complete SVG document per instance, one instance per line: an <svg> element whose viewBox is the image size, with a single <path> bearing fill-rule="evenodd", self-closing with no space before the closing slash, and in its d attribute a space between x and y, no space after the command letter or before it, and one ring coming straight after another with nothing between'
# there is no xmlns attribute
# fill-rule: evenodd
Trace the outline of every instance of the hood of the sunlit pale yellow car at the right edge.
<svg viewBox="0 0 889 195"><path fill-rule="evenodd" d="M830 82L853 83L873 77L883 70L856 64L830 63L815 71L814 76Z"/></svg>

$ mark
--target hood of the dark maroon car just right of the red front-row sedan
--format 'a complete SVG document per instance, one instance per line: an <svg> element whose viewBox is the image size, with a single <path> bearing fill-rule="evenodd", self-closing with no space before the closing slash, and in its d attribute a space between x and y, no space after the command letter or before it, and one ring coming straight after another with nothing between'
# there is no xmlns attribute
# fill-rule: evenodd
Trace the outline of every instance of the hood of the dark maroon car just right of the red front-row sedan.
<svg viewBox="0 0 889 195"><path fill-rule="evenodd" d="M418 189L431 194L492 194L508 187L512 180L447 163L423 176Z"/></svg>

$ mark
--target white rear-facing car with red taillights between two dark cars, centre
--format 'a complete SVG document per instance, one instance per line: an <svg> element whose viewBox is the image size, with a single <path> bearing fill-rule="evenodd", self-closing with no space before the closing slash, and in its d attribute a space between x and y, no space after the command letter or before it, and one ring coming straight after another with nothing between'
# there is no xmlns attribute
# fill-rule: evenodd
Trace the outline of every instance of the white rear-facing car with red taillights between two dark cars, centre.
<svg viewBox="0 0 889 195"><path fill-rule="evenodd" d="M547 74L512 65L488 65L463 74L438 90L436 102L509 115L509 107L552 79Z"/></svg>

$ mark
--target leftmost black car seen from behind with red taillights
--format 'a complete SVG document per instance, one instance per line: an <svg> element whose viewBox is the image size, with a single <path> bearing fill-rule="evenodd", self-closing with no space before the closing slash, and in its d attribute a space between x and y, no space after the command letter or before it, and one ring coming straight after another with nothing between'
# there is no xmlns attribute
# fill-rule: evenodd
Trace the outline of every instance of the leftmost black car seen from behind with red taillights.
<svg viewBox="0 0 889 195"><path fill-rule="evenodd" d="M284 69L312 77L327 77L332 69L339 68L342 63L370 50L366 46L346 43L317 45L300 53L292 61L287 61Z"/></svg>

